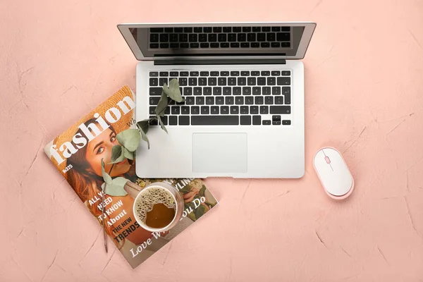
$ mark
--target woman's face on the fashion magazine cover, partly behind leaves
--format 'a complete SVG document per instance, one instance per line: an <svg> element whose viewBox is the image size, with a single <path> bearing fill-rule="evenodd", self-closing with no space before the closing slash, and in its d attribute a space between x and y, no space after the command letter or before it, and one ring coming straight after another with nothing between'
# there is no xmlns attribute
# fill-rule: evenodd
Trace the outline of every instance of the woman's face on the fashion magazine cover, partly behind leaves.
<svg viewBox="0 0 423 282"><path fill-rule="evenodd" d="M102 159L104 161L104 170L109 173L111 168L111 148L114 145L118 145L119 142L116 139L116 134L110 130L110 128L104 130L100 135L94 138L94 140L88 142L87 152L85 153L85 159L87 159L91 168L97 176L102 176ZM128 159L115 164L113 171L110 176L120 176L123 173L129 171L130 164Z"/></svg>

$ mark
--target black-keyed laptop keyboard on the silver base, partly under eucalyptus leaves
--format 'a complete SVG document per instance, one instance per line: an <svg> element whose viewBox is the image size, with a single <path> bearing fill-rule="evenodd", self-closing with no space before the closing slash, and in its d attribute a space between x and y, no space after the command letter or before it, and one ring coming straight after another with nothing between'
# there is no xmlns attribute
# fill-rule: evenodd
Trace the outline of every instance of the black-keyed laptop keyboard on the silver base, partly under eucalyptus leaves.
<svg viewBox="0 0 423 282"><path fill-rule="evenodd" d="M290 71L150 71L150 115L164 83L173 78L185 102L172 101L162 118L165 125L291 124L284 118L292 114Z"/></svg>

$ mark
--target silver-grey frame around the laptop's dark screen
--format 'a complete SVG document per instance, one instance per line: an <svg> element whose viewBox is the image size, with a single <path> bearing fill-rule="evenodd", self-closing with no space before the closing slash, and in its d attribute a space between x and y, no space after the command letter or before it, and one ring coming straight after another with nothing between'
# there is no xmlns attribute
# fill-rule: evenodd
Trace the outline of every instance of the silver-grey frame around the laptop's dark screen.
<svg viewBox="0 0 423 282"><path fill-rule="evenodd" d="M138 46L135 38L130 32L130 28L148 28L148 27L215 27L215 26L300 26L304 27L304 32L302 33L302 37L300 40L300 44L298 45L297 53L295 56L280 56L274 54L260 54L260 55L246 55L246 56L219 56L219 55L212 55L212 56L183 56L183 59L188 60L207 60L207 59L304 59L305 53L309 46L309 42L312 39L312 35L314 29L316 27L316 23L311 22L266 22L266 23L121 23L118 24L118 30L121 32L121 35L125 39L126 43L130 47L131 51L133 52L135 58L138 61L158 61L158 60L172 60L172 59L181 59L180 56L157 56L157 57L147 57L142 54L140 47ZM265 49L264 49L265 51Z"/></svg>

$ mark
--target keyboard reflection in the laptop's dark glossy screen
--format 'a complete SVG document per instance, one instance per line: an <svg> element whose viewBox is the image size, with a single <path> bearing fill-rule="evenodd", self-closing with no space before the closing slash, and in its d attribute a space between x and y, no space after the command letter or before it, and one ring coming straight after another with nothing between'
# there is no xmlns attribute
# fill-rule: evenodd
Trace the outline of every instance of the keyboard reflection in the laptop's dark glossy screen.
<svg viewBox="0 0 423 282"><path fill-rule="evenodd" d="M290 47L290 27L152 27L151 49Z"/></svg>

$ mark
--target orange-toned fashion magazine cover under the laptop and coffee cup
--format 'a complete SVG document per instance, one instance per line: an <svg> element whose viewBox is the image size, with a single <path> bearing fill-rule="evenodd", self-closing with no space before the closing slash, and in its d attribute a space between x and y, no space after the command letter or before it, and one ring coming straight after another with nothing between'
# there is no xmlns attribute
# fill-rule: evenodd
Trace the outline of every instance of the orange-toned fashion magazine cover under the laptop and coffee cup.
<svg viewBox="0 0 423 282"><path fill-rule="evenodd" d="M133 268L218 204L201 179L140 179L135 174L135 159L125 159L111 168L111 148L118 145L116 135L133 128L134 118L135 95L124 86L44 147L88 211L101 226L104 223L106 234ZM134 195L103 195L102 159L105 170L111 169L111 178L124 177L140 190L155 182L166 182L178 189L185 205L178 224L164 233L149 232L135 220Z"/></svg>

